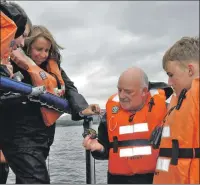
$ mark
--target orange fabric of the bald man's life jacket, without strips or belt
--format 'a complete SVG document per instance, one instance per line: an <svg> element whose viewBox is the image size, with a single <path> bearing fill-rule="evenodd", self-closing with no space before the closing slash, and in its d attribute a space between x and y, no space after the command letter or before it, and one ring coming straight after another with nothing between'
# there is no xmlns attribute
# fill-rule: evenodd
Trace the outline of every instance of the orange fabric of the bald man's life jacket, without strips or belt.
<svg viewBox="0 0 200 185"><path fill-rule="evenodd" d="M108 136L109 142L113 142L113 137L117 136L118 141L125 140L136 140L136 139L147 139L149 140L150 135L154 128L162 122L164 115L166 114L166 104L165 97L160 96L158 94L154 95L154 103L155 105L152 107L151 112L148 112L149 109L149 101L151 99L151 95L149 94L148 99L144 105L144 107L136 112L133 121L129 122L130 112L123 110L120 107L119 102L113 101L113 98L116 95L113 95L109 98L106 104L106 112L107 112L107 128L108 128ZM113 107L118 107L119 111L117 113L113 113ZM129 134L120 134L119 130L121 126L134 125L138 123L147 123L148 131L143 132L134 132ZM150 145L148 145L150 146ZM135 146L130 146L131 148ZM158 157L158 150L152 149L152 154L150 155L140 155L136 157L120 157L119 150L130 148L128 147L118 147L118 152L114 153L113 148L109 151L109 161L108 161L108 170L111 174L117 175L134 175L134 174L145 174L145 173L153 173L156 167L156 160Z"/></svg>

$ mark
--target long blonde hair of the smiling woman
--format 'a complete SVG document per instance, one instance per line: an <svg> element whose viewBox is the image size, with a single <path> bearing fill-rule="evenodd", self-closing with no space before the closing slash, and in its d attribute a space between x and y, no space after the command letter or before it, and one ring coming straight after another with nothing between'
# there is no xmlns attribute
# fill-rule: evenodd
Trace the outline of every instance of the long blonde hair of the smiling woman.
<svg viewBox="0 0 200 185"><path fill-rule="evenodd" d="M58 64L61 63L61 55L60 55L60 49L64 49L60 45L57 44L55 41L53 35L50 33L50 31L41 25L33 25L30 33L30 37L28 37L25 40L25 52L27 55L30 53L31 45L34 41L36 41L39 37L43 37L51 42L51 48L49 51L49 57L48 59L54 59Z"/></svg>

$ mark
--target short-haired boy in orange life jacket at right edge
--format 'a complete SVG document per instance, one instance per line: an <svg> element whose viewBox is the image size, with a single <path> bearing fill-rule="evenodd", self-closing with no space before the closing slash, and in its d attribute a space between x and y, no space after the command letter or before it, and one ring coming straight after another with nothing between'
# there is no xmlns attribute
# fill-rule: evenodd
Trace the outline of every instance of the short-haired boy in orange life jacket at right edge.
<svg viewBox="0 0 200 185"><path fill-rule="evenodd" d="M154 184L199 184L199 38L177 41L163 68L175 95L163 123Z"/></svg>

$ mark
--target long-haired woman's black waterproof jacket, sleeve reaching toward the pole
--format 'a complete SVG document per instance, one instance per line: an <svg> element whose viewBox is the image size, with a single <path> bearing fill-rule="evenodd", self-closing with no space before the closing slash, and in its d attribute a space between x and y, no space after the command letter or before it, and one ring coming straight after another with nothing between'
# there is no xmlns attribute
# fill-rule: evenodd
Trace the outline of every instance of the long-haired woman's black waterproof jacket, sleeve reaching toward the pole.
<svg viewBox="0 0 200 185"><path fill-rule="evenodd" d="M14 73L20 71L24 80L22 82L31 84L31 78L27 71L20 69L13 63ZM45 68L43 68L45 70ZM74 83L69 79L63 69L62 77L65 82L65 98L69 101L71 115L73 120L81 120L79 112L86 107L88 103L84 97L78 93ZM37 146L41 140L50 140L53 142L55 133L55 124L46 127L40 112L40 104L21 101L13 101L12 104L3 103L0 105L0 141L5 145L16 144L17 146Z"/></svg>

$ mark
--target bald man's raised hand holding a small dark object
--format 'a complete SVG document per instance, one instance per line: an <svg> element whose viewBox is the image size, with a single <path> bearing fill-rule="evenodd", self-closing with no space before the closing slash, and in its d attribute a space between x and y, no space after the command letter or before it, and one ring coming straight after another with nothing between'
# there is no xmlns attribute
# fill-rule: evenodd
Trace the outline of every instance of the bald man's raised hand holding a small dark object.
<svg viewBox="0 0 200 185"><path fill-rule="evenodd" d="M101 145L97 139L91 139L91 135L88 135L83 140L83 147L85 147L86 150L93 151L101 151L104 147Z"/></svg>

